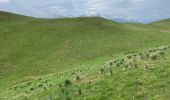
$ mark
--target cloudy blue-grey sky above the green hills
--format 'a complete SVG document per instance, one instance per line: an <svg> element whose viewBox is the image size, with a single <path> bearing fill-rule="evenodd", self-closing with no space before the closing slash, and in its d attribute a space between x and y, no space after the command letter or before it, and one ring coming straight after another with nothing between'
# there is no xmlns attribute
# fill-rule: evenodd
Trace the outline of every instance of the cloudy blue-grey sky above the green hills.
<svg viewBox="0 0 170 100"><path fill-rule="evenodd" d="M41 18L101 16L148 23L170 18L170 0L0 0L0 10Z"/></svg>

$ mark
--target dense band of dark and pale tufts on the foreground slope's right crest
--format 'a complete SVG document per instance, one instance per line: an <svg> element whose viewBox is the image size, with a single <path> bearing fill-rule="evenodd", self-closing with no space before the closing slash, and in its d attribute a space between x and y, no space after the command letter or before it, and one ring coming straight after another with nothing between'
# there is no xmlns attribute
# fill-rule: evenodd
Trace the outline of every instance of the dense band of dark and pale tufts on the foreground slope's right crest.
<svg viewBox="0 0 170 100"><path fill-rule="evenodd" d="M137 68L139 66L139 62L146 62L146 61L155 61L159 58L163 58L165 56L165 51L168 49L168 46L161 46L153 49L148 49L145 52L141 53L134 53L123 57L122 59L118 60L110 60L106 66L109 66L109 72L112 74L112 69L114 67L125 67L125 68ZM147 68L148 65L145 65ZM100 69L101 73L105 70L104 68Z"/></svg>

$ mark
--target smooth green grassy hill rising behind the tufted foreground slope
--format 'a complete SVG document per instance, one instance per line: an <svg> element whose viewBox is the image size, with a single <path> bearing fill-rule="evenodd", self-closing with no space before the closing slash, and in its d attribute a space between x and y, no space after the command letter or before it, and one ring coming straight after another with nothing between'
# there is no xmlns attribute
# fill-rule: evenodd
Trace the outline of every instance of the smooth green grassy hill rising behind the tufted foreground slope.
<svg viewBox="0 0 170 100"><path fill-rule="evenodd" d="M170 43L169 20L122 24L99 17L36 19L0 12L0 30L0 89Z"/></svg>

